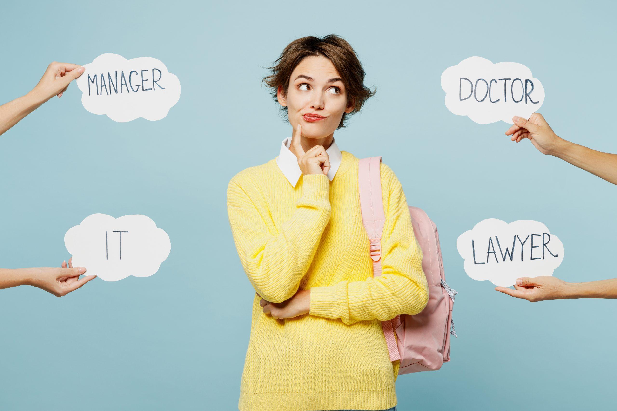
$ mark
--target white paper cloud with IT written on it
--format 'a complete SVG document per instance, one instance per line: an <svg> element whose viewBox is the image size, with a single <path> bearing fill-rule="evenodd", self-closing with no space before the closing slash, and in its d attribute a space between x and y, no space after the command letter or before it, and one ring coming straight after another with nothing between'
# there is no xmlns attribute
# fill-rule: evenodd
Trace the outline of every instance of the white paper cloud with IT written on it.
<svg viewBox="0 0 617 411"><path fill-rule="evenodd" d="M67 231L64 244L73 267L86 267L86 274L106 281L149 277L159 271L172 248L167 233L141 214L92 214Z"/></svg>

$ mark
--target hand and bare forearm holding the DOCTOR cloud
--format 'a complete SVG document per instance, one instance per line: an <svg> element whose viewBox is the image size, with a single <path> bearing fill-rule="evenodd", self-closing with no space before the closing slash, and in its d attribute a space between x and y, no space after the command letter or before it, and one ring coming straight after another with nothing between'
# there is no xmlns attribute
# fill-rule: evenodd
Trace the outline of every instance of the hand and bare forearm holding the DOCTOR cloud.
<svg viewBox="0 0 617 411"><path fill-rule="evenodd" d="M510 140L520 142L529 139L542 154L550 154L571 165L617 184L617 155L598 152L582 145L574 144L557 136L540 113L533 113L529 120L519 116L512 118L514 125L505 134Z"/></svg>

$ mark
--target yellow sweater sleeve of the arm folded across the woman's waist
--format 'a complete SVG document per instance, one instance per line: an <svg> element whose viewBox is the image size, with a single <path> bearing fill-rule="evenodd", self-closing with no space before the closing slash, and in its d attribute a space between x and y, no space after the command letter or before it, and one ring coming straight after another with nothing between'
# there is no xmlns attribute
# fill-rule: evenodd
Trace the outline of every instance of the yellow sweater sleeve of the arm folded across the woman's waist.
<svg viewBox="0 0 617 411"><path fill-rule="evenodd" d="M381 277L344 280L312 287L310 315L341 319L389 320L399 314L418 314L428 302L428 284L422 271L422 251L413 234L412 218L399 179L381 163L386 221L381 238ZM366 246L368 254L368 243Z"/></svg>

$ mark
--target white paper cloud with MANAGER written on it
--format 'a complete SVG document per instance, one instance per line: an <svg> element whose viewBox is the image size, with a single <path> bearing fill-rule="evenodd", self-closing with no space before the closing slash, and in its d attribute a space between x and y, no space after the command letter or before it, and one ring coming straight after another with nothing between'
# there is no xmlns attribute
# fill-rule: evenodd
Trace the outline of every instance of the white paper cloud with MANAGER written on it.
<svg viewBox="0 0 617 411"><path fill-rule="evenodd" d="M125 123L160 120L180 99L180 80L160 60L101 54L77 78L81 103L91 113Z"/></svg>

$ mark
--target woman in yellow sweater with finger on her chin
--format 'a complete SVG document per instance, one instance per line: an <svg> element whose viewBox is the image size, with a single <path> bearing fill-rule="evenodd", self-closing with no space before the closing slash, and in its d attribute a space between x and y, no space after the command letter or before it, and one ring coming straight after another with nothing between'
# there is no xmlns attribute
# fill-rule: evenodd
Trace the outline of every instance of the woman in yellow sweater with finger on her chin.
<svg viewBox="0 0 617 411"><path fill-rule="evenodd" d="M334 131L374 94L339 36L285 47L264 81L292 126L278 157L236 174L227 205L255 288L238 408L394 410L399 360L381 321L428 301L420 246L399 179L381 163L386 222L373 279L358 158Z"/></svg>

